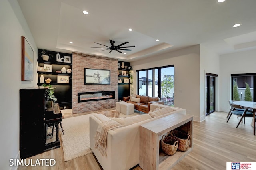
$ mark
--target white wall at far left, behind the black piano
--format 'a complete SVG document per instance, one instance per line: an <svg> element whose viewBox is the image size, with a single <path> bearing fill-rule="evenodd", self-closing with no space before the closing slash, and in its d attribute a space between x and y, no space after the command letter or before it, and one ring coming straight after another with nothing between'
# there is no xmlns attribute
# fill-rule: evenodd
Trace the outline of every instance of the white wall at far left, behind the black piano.
<svg viewBox="0 0 256 170"><path fill-rule="evenodd" d="M16 0L0 1L0 169L19 158L19 89L36 86L37 47ZM21 36L34 50L34 81L21 81Z"/></svg>

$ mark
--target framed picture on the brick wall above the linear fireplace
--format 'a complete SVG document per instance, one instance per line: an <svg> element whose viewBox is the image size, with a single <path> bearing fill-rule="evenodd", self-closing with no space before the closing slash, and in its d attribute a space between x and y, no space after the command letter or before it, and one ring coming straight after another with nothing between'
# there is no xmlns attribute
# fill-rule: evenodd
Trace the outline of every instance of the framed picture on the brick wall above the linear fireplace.
<svg viewBox="0 0 256 170"><path fill-rule="evenodd" d="M110 70L84 68L84 84L110 84Z"/></svg>

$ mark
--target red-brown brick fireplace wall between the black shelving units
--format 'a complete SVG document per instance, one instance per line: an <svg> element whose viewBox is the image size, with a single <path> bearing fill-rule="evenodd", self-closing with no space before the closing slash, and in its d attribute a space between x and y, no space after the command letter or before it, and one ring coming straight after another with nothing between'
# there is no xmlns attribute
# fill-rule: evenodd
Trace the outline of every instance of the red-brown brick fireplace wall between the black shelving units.
<svg viewBox="0 0 256 170"><path fill-rule="evenodd" d="M95 55L73 53L72 65L72 110L73 113L82 113L115 107L118 101L118 67L117 59ZM110 85L85 85L84 68L110 70ZM115 91L115 99L88 101L78 103L78 92Z"/></svg>

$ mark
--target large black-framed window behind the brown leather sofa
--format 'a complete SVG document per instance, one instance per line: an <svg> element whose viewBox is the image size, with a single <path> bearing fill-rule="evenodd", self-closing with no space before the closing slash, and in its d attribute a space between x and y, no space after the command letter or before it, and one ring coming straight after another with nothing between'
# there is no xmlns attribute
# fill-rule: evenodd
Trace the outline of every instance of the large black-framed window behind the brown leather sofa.
<svg viewBox="0 0 256 170"><path fill-rule="evenodd" d="M165 105L174 105L174 65L138 70L137 74L138 95L159 97Z"/></svg>

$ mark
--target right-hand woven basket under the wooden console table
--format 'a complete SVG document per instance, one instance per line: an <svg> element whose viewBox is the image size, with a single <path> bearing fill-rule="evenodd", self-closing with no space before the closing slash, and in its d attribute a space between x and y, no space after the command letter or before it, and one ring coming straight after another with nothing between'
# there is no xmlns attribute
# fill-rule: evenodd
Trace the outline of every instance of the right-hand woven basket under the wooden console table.
<svg viewBox="0 0 256 170"><path fill-rule="evenodd" d="M173 130L170 133L170 136L172 136L173 138L175 138L176 140L179 141L179 146L178 146L178 150L180 151L186 151L190 145L190 135L180 132L178 130Z"/></svg>

